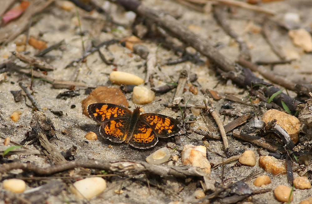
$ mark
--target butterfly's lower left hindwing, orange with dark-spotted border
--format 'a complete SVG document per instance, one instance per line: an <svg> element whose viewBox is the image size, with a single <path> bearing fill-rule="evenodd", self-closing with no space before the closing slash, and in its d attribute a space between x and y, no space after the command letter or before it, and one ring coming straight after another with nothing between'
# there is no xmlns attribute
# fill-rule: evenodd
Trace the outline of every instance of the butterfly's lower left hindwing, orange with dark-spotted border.
<svg viewBox="0 0 312 204"><path fill-rule="evenodd" d="M122 143L127 137L129 119L114 119L100 126L100 133L104 138L115 143Z"/></svg>

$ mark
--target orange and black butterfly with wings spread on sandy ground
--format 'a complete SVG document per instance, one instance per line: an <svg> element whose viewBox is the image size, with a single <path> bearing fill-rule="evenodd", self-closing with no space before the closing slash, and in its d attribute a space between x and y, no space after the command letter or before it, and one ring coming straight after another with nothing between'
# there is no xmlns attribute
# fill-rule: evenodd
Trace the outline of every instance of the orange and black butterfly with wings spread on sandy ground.
<svg viewBox="0 0 312 204"><path fill-rule="evenodd" d="M180 131L180 122L166 115L141 114L140 107L133 112L123 106L108 103L88 105L91 119L101 124L100 134L115 143L129 143L132 147L154 147L158 138L168 138Z"/></svg>

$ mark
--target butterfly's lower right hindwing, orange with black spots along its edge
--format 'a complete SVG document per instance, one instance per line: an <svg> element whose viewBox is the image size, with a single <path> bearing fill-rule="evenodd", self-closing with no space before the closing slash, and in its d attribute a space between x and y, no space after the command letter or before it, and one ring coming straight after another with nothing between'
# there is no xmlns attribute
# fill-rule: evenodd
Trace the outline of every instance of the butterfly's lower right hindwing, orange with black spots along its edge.
<svg viewBox="0 0 312 204"><path fill-rule="evenodd" d="M158 139L154 130L142 121L137 121L129 144L139 149L147 149L154 147Z"/></svg>

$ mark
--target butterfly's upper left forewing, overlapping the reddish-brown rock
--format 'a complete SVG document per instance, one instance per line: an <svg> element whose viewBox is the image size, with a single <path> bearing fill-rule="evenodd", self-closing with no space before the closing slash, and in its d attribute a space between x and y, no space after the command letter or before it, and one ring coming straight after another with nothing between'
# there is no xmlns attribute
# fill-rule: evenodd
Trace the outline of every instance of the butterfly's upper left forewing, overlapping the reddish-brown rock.
<svg viewBox="0 0 312 204"><path fill-rule="evenodd" d="M131 118L132 112L123 106L108 103L95 103L87 107L87 111L91 119L97 123L104 123L106 121Z"/></svg>

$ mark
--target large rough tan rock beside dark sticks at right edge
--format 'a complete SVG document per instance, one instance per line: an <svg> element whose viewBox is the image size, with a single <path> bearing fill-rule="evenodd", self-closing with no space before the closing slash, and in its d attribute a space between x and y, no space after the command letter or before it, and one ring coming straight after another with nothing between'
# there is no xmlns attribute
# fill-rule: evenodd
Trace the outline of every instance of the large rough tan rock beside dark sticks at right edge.
<svg viewBox="0 0 312 204"><path fill-rule="evenodd" d="M276 119L276 124L279 124L283 129L286 130L290 136L290 139L294 143L298 142L299 129L301 125L298 118L276 109L270 109L264 113L261 120L265 123L269 123L273 119Z"/></svg>

